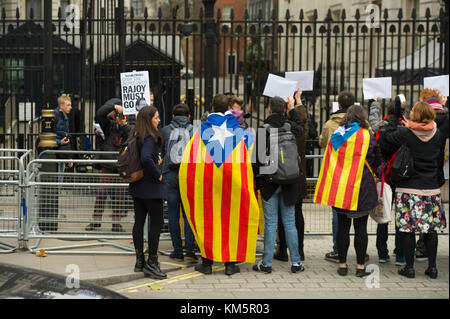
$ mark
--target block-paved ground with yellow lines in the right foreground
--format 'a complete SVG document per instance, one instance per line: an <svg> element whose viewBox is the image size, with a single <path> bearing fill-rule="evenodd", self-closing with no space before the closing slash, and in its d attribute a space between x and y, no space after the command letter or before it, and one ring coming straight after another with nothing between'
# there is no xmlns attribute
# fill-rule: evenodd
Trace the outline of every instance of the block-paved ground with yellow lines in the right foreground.
<svg viewBox="0 0 450 319"><path fill-rule="evenodd" d="M391 238L392 237L392 238ZM449 297L449 237L439 236L437 279L429 279L424 271L427 261L415 264L416 278L400 276L395 257L386 264L378 263L375 236L369 236L370 260L373 267L370 277L355 276L356 256L353 238L349 249L349 274L337 274L337 264L324 260L331 247L330 236L307 236L305 239L302 273L292 274L289 262L274 261L273 272L263 274L253 271L252 264L241 264L241 273L224 274L223 263L216 263L212 275L203 275L192 267L177 270L163 281L136 280L108 286L129 298L160 299L448 299ZM258 244L259 245L259 244ZM260 247L261 248L261 247ZM389 248L394 248L390 236Z"/></svg>

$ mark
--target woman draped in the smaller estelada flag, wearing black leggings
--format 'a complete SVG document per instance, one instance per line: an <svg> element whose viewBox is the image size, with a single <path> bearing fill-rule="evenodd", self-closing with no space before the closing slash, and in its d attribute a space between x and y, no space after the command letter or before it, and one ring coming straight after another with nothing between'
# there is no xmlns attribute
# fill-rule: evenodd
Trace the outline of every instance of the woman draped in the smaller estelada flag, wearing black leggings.
<svg viewBox="0 0 450 319"><path fill-rule="evenodd" d="M375 170L381 164L381 151L368 130L364 110L353 105L331 135L324 154L314 194L314 203L332 206L338 213L338 273L347 275L350 227L355 228L356 276L370 273L365 268L367 220L378 205Z"/></svg>

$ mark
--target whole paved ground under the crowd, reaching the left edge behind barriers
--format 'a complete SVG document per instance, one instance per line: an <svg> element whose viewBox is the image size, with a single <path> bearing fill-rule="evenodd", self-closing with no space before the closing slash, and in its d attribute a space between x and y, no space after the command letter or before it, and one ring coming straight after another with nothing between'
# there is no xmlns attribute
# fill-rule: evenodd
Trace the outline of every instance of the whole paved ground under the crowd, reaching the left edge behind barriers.
<svg viewBox="0 0 450 319"><path fill-rule="evenodd" d="M203 275L194 270L194 264L174 262L167 255L160 255L161 268L168 278L156 281L133 272L134 255L70 255L52 254L36 257L28 251L18 250L11 254L0 254L0 262L68 275L67 266L78 265L80 279L105 286L129 298L151 299L448 299L449 296L449 236L439 236L437 265L439 276L429 279L424 271L427 261L416 262L416 278L407 279L397 274L398 266L391 261L379 264L375 247L375 236L369 236L368 253L375 273L366 278L355 276L356 257L353 237L349 248L349 274L337 274L337 264L324 260L330 251L331 236L306 236L302 273L292 274L289 262L274 261L271 274L257 273L252 264L241 264L241 273L231 277L224 274L223 263L216 263L212 275ZM87 242L86 242L87 243ZM131 245L132 242L122 241ZM43 240L42 247L52 247L55 240ZM66 245L74 244L66 242ZM79 244L79 243L75 243ZM161 251L170 251L168 240L160 242ZM258 251L262 252L262 242ZM389 237L391 253L394 236ZM114 248L102 248L105 251ZM95 248L99 250L99 248ZM115 250L117 251L117 249ZM257 257L257 260L260 257ZM379 286L377 285L379 283ZM373 287L373 288L370 288Z"/></svg>

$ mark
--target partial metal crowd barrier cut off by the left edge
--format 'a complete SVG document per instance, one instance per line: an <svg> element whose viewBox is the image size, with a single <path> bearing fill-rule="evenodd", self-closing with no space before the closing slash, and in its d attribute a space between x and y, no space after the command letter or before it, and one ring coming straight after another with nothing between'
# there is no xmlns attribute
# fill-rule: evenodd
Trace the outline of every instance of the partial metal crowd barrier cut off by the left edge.
<svg viewBox="0 0 450 319"><path fill-rule="evenodd" d="M22 236L21 217L25 209L24 167L30 154L31 150L0 149L0 238L9 240L0 241L0 253L12 253L19 248ZM11 239L14 239L14 243Z"/></svg>

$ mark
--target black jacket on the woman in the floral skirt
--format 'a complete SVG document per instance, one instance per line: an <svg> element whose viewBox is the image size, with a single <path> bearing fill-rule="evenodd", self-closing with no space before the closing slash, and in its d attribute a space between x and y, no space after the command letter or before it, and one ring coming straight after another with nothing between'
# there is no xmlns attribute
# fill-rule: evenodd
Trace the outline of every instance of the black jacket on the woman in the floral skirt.
<svg viewBox="0 0 450 319"><path fill-rule="evenodd" d="M445 180L443 174L445 139L439 129L428 142L421 141L409 128L399 127L395 118L389 120L383 143L399 148L406 144L414 159L415 175L409 180L396 182L396 187L436 189Z"/></svg>

